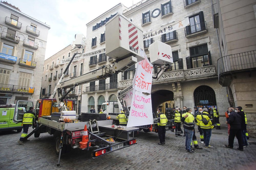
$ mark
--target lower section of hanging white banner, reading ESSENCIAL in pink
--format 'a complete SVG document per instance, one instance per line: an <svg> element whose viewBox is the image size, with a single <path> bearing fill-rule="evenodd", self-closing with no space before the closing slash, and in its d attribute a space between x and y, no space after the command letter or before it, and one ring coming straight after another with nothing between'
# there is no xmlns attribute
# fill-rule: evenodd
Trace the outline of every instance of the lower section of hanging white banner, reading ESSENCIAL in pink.
<svg viewBox="0 0 256 170"><path fill-rule="evenodd" d="M153 124L151 94L144 95L138 91L133 93L127 127Z"/></svg>

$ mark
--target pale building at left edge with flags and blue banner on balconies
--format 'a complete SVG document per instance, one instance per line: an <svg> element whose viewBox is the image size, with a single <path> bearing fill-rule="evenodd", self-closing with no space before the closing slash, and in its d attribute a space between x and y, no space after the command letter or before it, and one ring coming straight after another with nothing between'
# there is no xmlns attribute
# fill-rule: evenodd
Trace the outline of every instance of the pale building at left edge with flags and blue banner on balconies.
<svg viewBox="0 0 256 170"><path fill-rule="evenodd" d="M0 2L0 104L36 101L49 25Z"/></svg>

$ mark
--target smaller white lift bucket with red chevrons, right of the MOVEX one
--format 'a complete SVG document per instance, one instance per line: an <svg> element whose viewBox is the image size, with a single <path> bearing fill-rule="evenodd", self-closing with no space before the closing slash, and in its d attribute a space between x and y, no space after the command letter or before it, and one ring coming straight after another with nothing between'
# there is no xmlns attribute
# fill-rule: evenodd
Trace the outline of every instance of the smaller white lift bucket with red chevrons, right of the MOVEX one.
<svg viewBox="0 0 256 170"><path fill-rule="evenodd" d="M172 64L173 63L173 55L172 55L172 47L162 43L160 41L155 41L149 47L150 54L150 62L152 64Z"/></svg>

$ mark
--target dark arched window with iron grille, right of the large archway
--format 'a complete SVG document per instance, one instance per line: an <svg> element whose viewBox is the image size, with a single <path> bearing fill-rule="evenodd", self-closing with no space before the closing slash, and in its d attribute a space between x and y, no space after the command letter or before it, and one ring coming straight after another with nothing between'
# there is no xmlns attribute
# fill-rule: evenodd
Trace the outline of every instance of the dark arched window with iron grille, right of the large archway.
<svg viewBox="0 0 256 170"><path fill-rule="evenodd" d="M195 106L216 106L214 90L209 86L199 86L194 91Z"/></svg>

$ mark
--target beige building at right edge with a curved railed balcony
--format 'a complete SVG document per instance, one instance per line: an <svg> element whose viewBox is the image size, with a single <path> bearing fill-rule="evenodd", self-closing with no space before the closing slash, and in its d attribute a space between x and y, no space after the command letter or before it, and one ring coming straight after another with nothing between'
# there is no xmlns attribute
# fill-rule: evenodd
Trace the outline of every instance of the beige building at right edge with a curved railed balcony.
<svg viewBox="0 0 256 170"><path fill-rule="evenodd" d="M219 84L226 88L230 106L241 106L249 136L256 136L256 2L215 1L214 26L221 57Z"/></svg>

